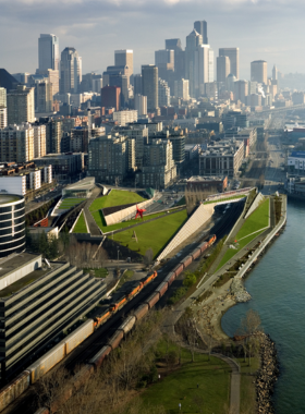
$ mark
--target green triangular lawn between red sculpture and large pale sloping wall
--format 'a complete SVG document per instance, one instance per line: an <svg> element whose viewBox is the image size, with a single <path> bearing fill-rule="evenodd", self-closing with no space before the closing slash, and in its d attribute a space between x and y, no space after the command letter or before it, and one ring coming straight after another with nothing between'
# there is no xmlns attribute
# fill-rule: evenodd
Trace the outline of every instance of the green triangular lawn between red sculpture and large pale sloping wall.
<svg viewBox="0 0 305 414"><path fill-rule="evenodd" d="M154 257L156 257L186 220L187 214L184 209L174 215L160 218L157 221L117 233L113 235L113 240L124 246L127 245L129 248L139 252L142 255L145 255L145 252L151 247ZM135 239L132 239L134 231L137 242Z"/></svg>

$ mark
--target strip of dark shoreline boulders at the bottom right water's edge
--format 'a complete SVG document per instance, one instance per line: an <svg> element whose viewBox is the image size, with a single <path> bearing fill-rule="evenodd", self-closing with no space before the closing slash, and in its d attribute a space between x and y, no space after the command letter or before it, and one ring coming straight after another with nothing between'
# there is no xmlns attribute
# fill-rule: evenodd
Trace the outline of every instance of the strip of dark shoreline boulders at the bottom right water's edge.
<svg viewBox="0 0 305 414"><path fill-rule="evenodd" d="M260 369L256 378L257 412L271 414L274 413L271 395L280 370L274 342L266 333L260 336Z"/></svg>

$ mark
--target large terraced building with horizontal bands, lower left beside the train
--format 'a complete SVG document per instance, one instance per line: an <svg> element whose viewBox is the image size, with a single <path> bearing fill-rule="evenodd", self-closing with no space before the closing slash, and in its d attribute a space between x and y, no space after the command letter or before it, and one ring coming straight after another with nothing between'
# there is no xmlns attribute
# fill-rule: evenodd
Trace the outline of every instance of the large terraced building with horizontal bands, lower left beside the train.
<svg viewBox="0 0 305 414"><path fill-rule="evenodd" d="M0 260L1 380L35 360L106 292L106 284L69 263L44 264L23 253Z"/></svg>

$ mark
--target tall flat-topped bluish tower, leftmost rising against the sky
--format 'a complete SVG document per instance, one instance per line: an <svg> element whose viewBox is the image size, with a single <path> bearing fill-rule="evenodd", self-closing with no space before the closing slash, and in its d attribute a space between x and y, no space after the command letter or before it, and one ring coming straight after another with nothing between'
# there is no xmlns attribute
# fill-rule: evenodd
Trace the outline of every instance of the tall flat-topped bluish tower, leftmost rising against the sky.
<svg viewBox="0 0 305 414"><path fill-rule="evenodd" d="M59 38L56 35L40 35L38 39L38 65L40 71L46 69L59 70Z"/></svg>

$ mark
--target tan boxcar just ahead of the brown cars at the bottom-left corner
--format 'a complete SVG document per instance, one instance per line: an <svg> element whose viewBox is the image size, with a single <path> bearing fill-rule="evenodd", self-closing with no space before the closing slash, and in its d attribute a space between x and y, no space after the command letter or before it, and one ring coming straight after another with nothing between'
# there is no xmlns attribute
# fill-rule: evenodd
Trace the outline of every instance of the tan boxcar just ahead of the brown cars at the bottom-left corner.
<svg viewBox="0 0 305 414"><path fill-rule="evenodd" d="M65 356L65 343L61 341L58 345L52 348L49 352L42 355L27 370L29 370L30 383L35 383L48 370L62 361Z"/></svg>

